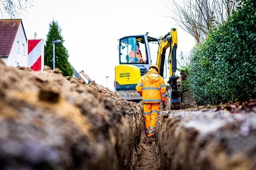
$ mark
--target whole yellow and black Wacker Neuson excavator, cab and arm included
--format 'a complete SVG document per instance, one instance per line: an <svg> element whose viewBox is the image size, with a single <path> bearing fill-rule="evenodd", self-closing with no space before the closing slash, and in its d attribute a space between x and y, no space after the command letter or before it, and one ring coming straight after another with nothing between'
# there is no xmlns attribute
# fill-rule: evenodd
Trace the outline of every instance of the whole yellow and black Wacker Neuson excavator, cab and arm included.
<svg viewBox="0 0 256 170"><path fill-rule="evenodd" d="M146 74L151 64L157 64L159 74L164 77L166 51L168 54L169 80L167 81L167 108L180 108L180 90L176 72L176 49L178 47L177 30L172 28L164 37L154 38L144 35L130 35L119 40L119 65L115 67L115 91L124 99L138 102L141 96L135 87L141 76ZM157 52L155 61L154 54ZM154 60L154 61L153 61Z"/></svg>

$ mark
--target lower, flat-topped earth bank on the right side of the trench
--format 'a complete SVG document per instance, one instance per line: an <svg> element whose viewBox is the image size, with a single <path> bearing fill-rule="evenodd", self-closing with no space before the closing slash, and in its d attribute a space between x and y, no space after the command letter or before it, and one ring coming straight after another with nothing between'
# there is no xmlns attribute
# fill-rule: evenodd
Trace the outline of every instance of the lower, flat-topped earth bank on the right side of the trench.
<svg viewBox="0 0 256 170"><path fill-rule="evenodd" d="M256 111L163 111L156 144L164 170L256 169Z"/></svg>

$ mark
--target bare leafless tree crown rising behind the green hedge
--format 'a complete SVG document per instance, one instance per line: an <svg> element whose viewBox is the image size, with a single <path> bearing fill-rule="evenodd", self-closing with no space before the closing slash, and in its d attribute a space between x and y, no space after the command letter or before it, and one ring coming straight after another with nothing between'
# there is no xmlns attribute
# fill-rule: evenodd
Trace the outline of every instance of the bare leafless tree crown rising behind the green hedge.
<svg viewBox="0 0 256 170"><path fill-rule="evenodd" d="M178 26L201 43L207 33L227 20L241 5L241 0L168 0L166 5Z"/></svg>

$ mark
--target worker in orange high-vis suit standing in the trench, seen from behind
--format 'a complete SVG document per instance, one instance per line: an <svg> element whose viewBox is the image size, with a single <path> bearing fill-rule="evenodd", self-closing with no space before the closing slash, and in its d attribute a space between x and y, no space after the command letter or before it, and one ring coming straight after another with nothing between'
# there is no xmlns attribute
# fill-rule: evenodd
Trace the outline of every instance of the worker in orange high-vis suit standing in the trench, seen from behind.
<svg viewBox="0 0 256 170"><path fill-rule="evenodd" d="M136 90L142 96L144 104L146 135L154 137L160 102L163 102L163 106L166 107L166 85L164 78L158 74L158 66L152 64L149 68L147 74L140 78Z"/></svg>

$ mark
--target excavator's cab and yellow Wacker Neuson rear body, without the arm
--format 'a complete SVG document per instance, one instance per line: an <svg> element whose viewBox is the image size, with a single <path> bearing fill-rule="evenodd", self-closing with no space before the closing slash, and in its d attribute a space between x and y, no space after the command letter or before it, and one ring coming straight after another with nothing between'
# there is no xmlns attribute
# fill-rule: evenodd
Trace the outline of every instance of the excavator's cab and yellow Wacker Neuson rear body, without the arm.
<svg viewBox="0 0 256 170"><path fill-rule="evenodd" d="M115 91L126 100L141 100L135 87L152 64L149 44L159 46L160 40L148 36L148 33L119 39L119 65L115 67L114 87Z"/></svg>

